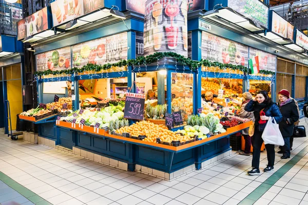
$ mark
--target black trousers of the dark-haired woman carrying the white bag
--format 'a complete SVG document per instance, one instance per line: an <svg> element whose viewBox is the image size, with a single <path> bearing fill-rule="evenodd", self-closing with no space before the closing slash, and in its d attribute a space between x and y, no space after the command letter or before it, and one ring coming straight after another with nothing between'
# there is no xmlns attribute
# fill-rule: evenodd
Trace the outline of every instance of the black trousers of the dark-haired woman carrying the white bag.
<svg viewBox="0 0 308 205"><path fill-rule="evenodd" d="M259 169L260 165L260 154L261 154L261 146L263 144L262 133L255 129L255 134L252 137L253 144L253 161L252 167ZM275 163L275 145L267 144L265 145L266 153L267 153L267 166L274 166Z"/></svg>

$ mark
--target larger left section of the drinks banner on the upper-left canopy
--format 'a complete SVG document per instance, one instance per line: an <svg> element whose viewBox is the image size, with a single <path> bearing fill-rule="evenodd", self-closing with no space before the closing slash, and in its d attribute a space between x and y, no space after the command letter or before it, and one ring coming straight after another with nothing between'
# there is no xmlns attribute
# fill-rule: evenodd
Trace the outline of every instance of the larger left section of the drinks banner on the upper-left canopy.
<svg viewBox="0 0 308 205"><path fill-rule="evenodd" d="M53 26L70 22L84 15L83 0L57 0L50 4Z"/></svg>

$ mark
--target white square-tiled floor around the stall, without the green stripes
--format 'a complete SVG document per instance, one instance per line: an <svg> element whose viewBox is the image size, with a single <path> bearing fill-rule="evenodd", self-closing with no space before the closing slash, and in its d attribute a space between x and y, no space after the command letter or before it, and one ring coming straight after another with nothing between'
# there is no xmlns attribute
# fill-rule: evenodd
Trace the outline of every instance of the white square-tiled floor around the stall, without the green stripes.
<svg viewBox="0 0 308 205"><path fill-rule="evenodd" d="M307 145L306 138L295 139L292 156ZM280 156L275 171L290 160ZM52 204L238 204L272 175L248 176L251 160L235 154L169 182L0 134L0 171ZM266 152L260 161L265 168ZM308 204L307 162L308 155L255 204Z"/></svg>

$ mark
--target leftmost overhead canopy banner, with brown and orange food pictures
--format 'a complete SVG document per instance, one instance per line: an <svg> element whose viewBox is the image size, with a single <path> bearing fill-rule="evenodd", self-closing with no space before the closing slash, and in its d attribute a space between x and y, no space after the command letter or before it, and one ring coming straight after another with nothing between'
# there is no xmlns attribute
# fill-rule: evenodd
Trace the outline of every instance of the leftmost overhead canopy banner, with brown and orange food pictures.
<svg viewBox="0 0 308 205"><path fill-rule="evenodd" d="M47 7L17 22L17 40L48 29Z"/></svg>

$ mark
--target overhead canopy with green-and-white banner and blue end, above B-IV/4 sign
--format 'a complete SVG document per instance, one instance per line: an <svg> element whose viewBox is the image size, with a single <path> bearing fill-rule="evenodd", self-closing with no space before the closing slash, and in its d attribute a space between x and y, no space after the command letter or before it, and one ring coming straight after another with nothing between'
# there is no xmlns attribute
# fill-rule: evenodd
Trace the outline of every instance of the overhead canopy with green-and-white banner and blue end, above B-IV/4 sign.
<svg viewBox="0 0 308 205"><path fill-rule="evenodd" d="M209 11L204 17L219 16L249 31L268 28L269 8L259 0L206 0L206 2Z"/></svg>

